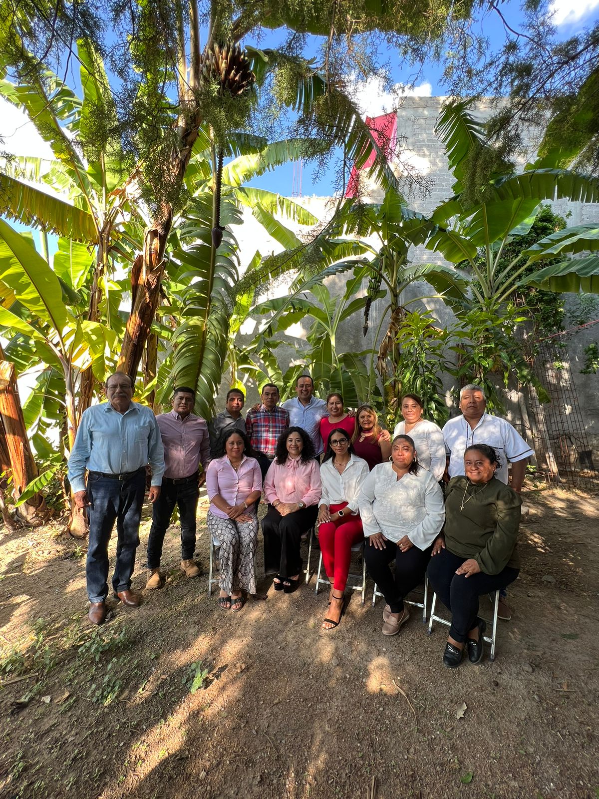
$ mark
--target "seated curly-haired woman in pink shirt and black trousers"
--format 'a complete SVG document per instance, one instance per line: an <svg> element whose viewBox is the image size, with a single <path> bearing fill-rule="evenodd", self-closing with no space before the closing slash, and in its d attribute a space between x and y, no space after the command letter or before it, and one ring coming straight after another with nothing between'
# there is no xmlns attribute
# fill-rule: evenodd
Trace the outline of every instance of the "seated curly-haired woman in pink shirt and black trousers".
<svg viewBox="0 0 599 799"><path fill-rule="evenodd" d="M277 571L275 590L292 594L300 585L300 543L314 527L320 499L320 470L314 445L301 427L288 427L276 443L264 479L268 511L262 519L264 569Z"/></svg>

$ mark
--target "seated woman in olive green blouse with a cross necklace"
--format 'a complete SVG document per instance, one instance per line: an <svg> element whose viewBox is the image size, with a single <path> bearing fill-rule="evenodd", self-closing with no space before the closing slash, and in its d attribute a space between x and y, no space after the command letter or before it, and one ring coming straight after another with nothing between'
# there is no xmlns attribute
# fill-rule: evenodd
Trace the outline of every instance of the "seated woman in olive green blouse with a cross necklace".
<svg viewBox="0 0 599 799"><path fill-rule="evenodd" d="M434 542L428 578L451 611L443 664L454 669L464 646L471 663L482 658L485 622L478 618L478 597L505 588L518 577L516 551L520 496L495 478L497 453L487 444L468 447L464 475L446 487L446 520Z"/></svg>

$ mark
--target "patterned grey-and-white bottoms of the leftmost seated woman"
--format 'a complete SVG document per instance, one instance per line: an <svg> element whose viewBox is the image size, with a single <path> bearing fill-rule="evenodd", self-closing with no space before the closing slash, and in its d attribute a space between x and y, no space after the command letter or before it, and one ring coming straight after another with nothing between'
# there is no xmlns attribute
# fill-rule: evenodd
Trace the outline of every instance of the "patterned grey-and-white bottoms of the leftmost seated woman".
<svg viewBox="0 0 599 799"><path fill-rule="evenodd" d="M254 555L258 540L258 517L254 516L251 522L236 522L234 519L220 519L220 516L208 511L207 522L208 533L220 541L218 559L221 590L227 594L240 590L256 594Z"/></svg>

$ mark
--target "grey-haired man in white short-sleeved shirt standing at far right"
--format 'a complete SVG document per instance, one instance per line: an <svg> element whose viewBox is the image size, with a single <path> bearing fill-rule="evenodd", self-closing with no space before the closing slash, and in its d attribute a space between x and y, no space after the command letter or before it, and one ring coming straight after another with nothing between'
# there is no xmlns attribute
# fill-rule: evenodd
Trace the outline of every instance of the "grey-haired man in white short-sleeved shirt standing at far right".
<svg viewBox="0 0 599 799"><path fill-rule="evenodd" d="M520 493L526 461L534 451L522 435L506 419L486 413L484 389L468 384L460 391L461 416L449 419L443 427L443 439L447 455L447 475L449 478L464 474L464 452L473 444L489 444L498 454L500 466L495 477L502 483L510 483ZM511 464L509 480L508 463ZM505 592L499 602L499 618L510 619L510 608L504 602Z"/></svg>

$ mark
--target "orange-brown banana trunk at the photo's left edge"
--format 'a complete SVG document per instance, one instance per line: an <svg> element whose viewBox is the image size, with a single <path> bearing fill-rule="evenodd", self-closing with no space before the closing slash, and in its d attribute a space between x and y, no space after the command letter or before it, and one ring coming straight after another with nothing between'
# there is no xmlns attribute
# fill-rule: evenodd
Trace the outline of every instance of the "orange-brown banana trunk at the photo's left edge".
<svg viewBox="0 0 599 799"><path fill-rule="evenodd" d="M18 499L31 480L38 477L38 467L31 452L21 402L18 397L14 364L0 361L0 417L6 431L6 451L13 475L13 496ZM48 510L41 494L36 494L18 509L18 516L30 527L46 522Z"/></svg>

